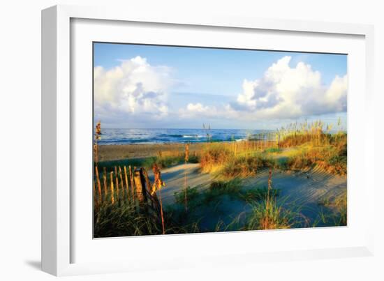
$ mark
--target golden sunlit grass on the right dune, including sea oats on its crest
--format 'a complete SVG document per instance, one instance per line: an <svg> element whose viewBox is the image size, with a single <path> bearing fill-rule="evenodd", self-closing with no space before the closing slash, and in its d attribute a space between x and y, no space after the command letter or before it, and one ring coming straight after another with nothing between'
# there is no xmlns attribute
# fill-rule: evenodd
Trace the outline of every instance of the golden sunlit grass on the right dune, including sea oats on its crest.
<svg viewBox="0 0 384 281"><path fill-rule="evenodd" d="M267 167L307 169L315 165L331 174L346 175L347 135L341 130L331 134L331 129L332 125L325 126L322 121L293 123L276 132L276 145L270 147L259 146L260 140L207 144L200 153L200 166L202 172L227 178L255 176ZM261 138L265 142L264 133ZM292 146L288 157L278 157Z"/></svg>

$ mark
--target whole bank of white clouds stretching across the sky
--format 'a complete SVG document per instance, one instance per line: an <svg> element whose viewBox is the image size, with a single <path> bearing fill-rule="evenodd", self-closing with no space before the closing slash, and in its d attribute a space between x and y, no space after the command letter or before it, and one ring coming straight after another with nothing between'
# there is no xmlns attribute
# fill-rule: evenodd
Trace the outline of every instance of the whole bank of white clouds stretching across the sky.
<svg viewBox="0 0 384 281"><path fill-rule="evenodd" d="M307 63L291 67L290 56L269 66L262 77L244 79L242 92L232 102L221 100L171 100L168 92L180 82L172 79L172 69L152 66L136 56L106 70L94 68L94 106L96 119L135 126L149 119L159 122L182 119L216 119L218 121L260 121L266 119L297 119L302 116L346 112L348 77L336 76L325 86L321 74ZM193 101L193 102L191 102ZM189 102L189 103L188 103ZM163 118L168 116L168 118ZM175 119L176 118L176 119ZM140 123L141 122L141 123Z"/></svg>

